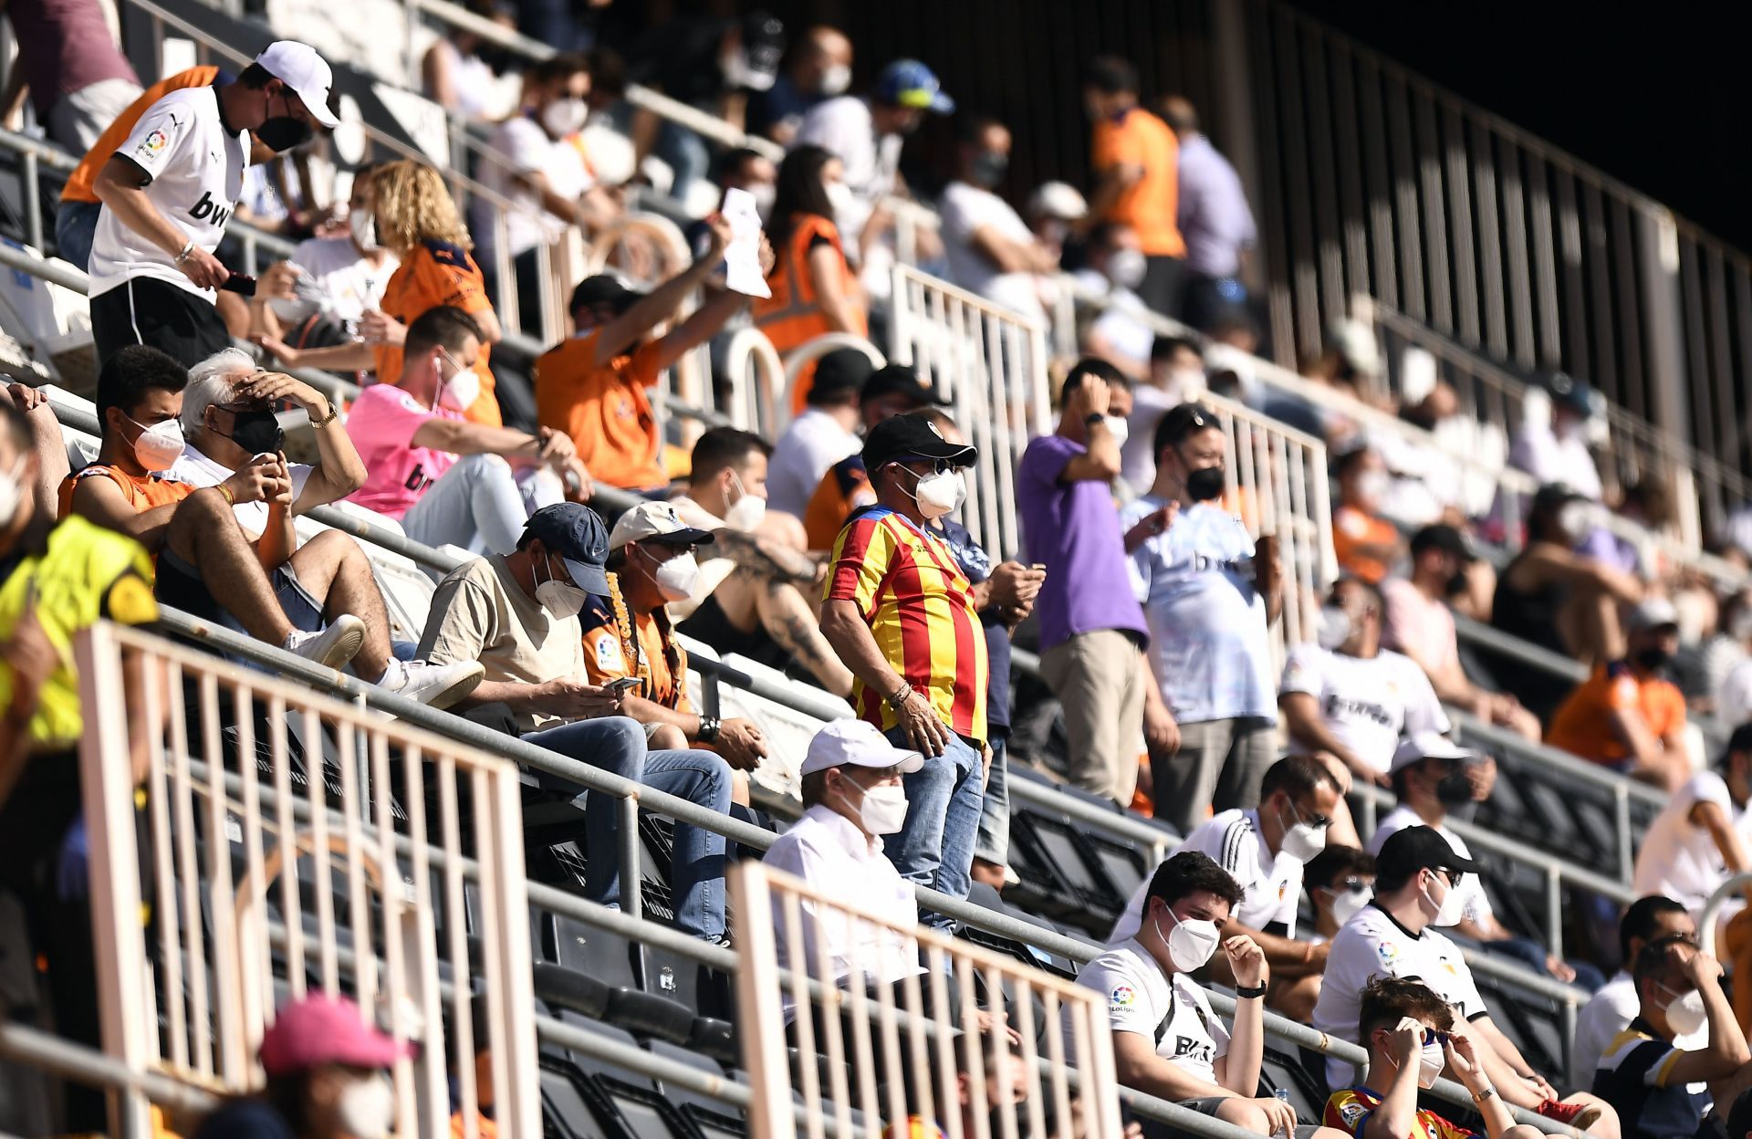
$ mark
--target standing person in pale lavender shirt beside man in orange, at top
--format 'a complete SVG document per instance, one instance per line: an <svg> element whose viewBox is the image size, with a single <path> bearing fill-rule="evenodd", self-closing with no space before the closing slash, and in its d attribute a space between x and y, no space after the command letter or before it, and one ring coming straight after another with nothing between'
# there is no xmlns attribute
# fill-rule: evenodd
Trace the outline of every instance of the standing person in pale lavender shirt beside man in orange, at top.
<svg viewBox="0 0 1752 1139"><path fill-rule="evenodd" d="M1162 100L1162 117L1179 142L1179 209L1176 224L1186 240L1186 286L1181 315L1209 331L1218 317L1247 303L1240 284L1242 258L1258 240L1240 175L1198 130L1198 112L1179 95Z"/></svg>

